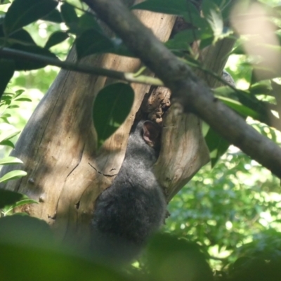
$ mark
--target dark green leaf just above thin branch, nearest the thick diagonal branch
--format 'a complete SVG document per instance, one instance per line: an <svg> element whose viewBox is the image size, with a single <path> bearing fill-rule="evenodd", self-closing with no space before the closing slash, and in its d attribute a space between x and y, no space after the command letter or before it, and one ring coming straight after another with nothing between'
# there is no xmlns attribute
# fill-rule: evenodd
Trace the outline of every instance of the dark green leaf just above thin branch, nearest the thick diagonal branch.
<svg viewBox="0 0 281 281"><path fill-rule="evenodd" d="M114 44L110 38L97 30L86 30L76 40L76 51L79 59L93 53L106 53L112 48L114 48Z"/></svg>

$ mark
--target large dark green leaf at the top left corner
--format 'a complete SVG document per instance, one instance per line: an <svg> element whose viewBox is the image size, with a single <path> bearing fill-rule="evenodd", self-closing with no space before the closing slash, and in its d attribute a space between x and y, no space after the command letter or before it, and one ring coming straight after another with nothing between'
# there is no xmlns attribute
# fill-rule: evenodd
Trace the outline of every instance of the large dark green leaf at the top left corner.
<svg viewBox="0 0 281 281"><path fill-rule="evenodd" d="M53 0L15 0L8 8L4 19L6 35L39 20L58 6Z"/></svg>

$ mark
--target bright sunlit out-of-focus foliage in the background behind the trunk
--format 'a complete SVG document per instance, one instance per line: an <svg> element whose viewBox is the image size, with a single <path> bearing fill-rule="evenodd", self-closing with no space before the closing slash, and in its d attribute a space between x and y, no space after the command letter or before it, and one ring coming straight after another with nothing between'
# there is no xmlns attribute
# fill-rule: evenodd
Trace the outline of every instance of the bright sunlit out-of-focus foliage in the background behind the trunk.
<svg viewBox="0 0 281 281"><path fill-rule="evenodd" d="M264 2L268 3L266 0ZM7 7L1 5L0 8L6 11ZM46 25L39 20L25 29L37 44L44 46L50 34L63 28L62 25L54 22ZM51 50L58 57L65 58L65 50L70 48L72 42L70 37ZM248 89L252 69L246 55L230 55L226 70L232 75L238 89ZM51 66L15 72L6 91L23 89L32 103L20 103L19 108L10 110L9 121L13 126L23 129L57 74L58 67ZM267 100L271 97L264 95L258 98ZM279 131L249 118L247 121L258 131L280 143ZM16 138L18 136L13 141ZM1 148L1 156L8 155L10 150L6 146ZM230 146L214 168L210 164L204 166L171 200L171 215L166 219L164 232L203 245L211 257L211 267L220 270L243 254L253 254L265 249L281 250L281 237L278 233L281 230L280 207L280 180L240 150ZM139 268L142 263L136 263L135 266Z"/></svg>

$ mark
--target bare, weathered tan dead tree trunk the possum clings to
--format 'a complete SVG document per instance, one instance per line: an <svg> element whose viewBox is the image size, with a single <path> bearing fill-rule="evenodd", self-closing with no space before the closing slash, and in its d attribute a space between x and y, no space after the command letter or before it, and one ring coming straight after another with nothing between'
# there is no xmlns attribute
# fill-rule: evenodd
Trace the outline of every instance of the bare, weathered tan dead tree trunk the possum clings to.
<svg viewBox="0 0 281 281"><path fill-rule="evenodd" d="M136 14L160 40L169 39L175 16L148 11ZM76 59L73 50L68 59ZM137 59L112 54L92 56L87 63L126 72L141 66ZM106 77L61 70L11 153L24 162L13 169L23 169L27 176L0 187L38 200L39 204L30 204L20 211L44 219L61 240L78 235L82 244L89 243L94 202L119 171L131 125L150 88L132 85L135 101L129 117L97 152L92 105L98 91L110 83L112 79ZM153 103L158 93L162 101L169 95L166 89L157 89L148 102ZM162 150L155 172L169 201L209 161L209 152L200 119L183 114L181 105L172 104L163 124ZM9 168L4 167L1 173Z"/></svg>

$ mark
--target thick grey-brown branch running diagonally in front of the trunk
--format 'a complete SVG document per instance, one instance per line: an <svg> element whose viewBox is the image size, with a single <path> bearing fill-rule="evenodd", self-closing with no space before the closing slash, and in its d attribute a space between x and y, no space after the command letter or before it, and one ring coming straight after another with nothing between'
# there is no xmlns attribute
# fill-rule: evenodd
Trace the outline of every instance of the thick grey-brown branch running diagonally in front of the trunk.
<svg viewBox="0 0 281 281"><path fill-rule="evenodd" d="M178 60L119 0L82 0L164 81L185 110L281 178L281 149L214 98L188 65Z"/></svg>

